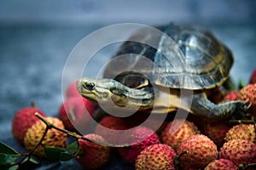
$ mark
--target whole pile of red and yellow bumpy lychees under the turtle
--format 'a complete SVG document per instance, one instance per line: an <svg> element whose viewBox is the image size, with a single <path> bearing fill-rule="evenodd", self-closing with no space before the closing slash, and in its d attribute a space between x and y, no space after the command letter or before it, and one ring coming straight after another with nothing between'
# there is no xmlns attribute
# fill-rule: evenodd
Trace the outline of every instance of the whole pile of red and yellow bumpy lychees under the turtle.
<svg viewBox="0 0 256 170"><path fill-rule="evenodd" d="M214 95L218 98L214 99L212 95L214 103L248 100L248 105L251 105L248 110L250 117L230 122L193 115L173 120L168 115L160 126L155 127L162 121L157 115L150 116L148 123L142 126L142 122L149 119L147 114L138 113L125 118L106 114L97 120L98 124L92 133L84 134L85 139L96 143L78 139L80 150L76 159L85 169L105 166L111 154L121 156L137 170L256 169L256 70L250 82L240 90L226 92L218 89L217 92L218 95ZM33 154L47 158L44 147L65 148L68 135L50 128L44 139L41 139L46 125L35 113L57 127L79 133L80 127L86 128L90 124L96 107L80 96L73 82L67 88L67 98L60 106L58 118L47 117L35 107L24 108L16 113L12 132L26 150L33 150L41 140ZM173 130L175 124L179 124L179 127Z"/></svg>

